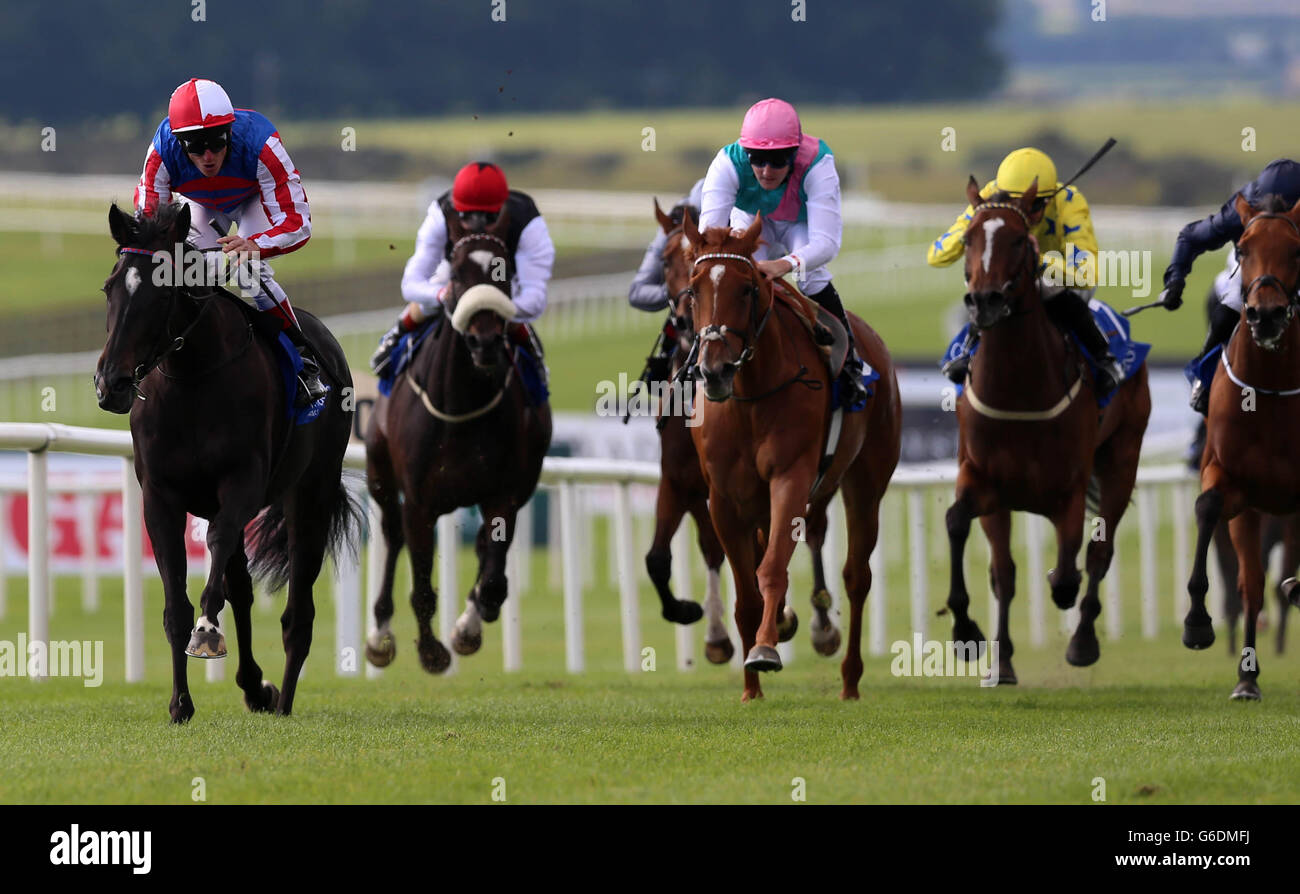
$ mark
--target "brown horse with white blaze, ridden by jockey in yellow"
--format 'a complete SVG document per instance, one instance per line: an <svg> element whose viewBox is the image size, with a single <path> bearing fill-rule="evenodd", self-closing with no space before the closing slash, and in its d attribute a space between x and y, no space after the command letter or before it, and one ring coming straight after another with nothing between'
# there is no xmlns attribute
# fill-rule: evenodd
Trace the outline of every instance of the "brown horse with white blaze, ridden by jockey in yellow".
<svg viewBox="0 0 1300 894"><path fill-rule="evenodd" d="M1014 683L1008 613L1015 595L1011 511L1046 516L1056 528L1057 564L1048 581L1060 608L1074 606L1080 576L1088 482L1100 485L1098 517L1091 525L1088 590L1066 660L1097 660L1097 589L1114 555L1113 541L1138 477L1150 392L1143 365L1100 415L1074 342L1048 320L1039 291L1039 255L1031 239L1035 182L1023 196L996 194L985 201L972 177L966 198L975 209L966 229L966 307L982 330L966 390L957 403L957 499L948 509L952 548L953 639L984 646L970 619L962 556L972 518L993 551L989 570L997 594L997 682Z"/></svg>

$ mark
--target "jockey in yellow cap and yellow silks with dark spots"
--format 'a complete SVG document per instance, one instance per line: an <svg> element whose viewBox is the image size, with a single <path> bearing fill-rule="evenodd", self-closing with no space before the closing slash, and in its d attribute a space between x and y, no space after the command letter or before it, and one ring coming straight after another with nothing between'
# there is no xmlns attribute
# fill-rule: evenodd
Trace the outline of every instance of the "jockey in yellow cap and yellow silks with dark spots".
<svg viewBox="0 0 1300 894"><path fill-rule="evenodd" d="M1043 277L1043 307L1053 322L1072 333L1088 350L1098 366L1098 385L1106 391L1119 385L1124 374L1119 361L1110 353L1106 337L1088 311L1088 299L1096 286L1062 285L1096 282L1097 236L1092 230L1087 199L1076 186L1062 187L1057 181L1056 164L1045 152L1035 148L1015 149L1006 156L997 168L997 177L985 183L979 194L984 199L997 192L1020 196L1035 179L1039 182L1039 198L1034 203L1030 224L1040 256L1045 256L1039 268ZM935 239L926 255L931 266L948 266L962 256L962 236L974 213L967 205L948 231ZM944 376L953 382L965 381L970 353L978 339L972 327L962 353L944 365ZM1106 382L1106 378L1112 381Z"/></svg>

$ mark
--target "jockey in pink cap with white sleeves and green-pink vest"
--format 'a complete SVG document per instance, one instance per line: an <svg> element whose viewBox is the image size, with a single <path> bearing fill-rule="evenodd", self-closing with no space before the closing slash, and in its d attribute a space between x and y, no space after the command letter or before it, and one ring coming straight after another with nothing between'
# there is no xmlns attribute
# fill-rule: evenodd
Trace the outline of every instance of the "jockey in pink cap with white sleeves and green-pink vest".
<svg viewBox="0 0 1300 894"><path fill-rule="evenodd" d="M759 272L775 279L793 272L798 286L831 311L849 333L841 376L845 403L866 403L862 361L853 330L827 269L840 253L840 175L826 140L803 133L794 107L764 99L750 107L740 139L719 149L705 175L699 227L744 230L763 214L763 244L754 252ZM779 253L784 252L784 253Z"/></svg>

